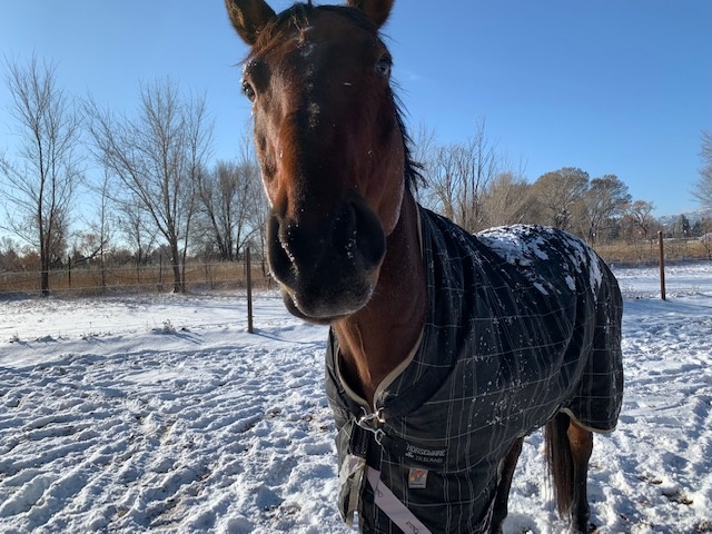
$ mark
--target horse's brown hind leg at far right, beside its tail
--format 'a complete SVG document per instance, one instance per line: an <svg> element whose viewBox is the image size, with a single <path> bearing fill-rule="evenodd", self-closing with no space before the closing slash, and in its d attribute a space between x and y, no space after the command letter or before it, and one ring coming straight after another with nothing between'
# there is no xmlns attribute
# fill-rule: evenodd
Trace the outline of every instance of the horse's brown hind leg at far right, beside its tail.
<svg viewBox="0 0 712 534"><path fill-rule="evenodd" d="M572 532L590 532L589 495L586 482L589 478L589 459L593 452L593 433L578 426L574 421L568 423L566 431L568 446L573 461L573 498L571 505Z"/></svg>

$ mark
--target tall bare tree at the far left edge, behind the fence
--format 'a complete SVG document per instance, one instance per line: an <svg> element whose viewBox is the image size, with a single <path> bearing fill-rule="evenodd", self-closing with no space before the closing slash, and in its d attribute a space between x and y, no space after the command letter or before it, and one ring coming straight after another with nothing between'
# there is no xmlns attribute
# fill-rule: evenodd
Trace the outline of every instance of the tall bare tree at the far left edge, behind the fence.
<svg viewBox="0 0 712 534"><path fill-rule="evenodd" d="M7 62L12 96L10 116L18 125L14 158L0 155L7 230L39 251L40 287L50 293L49 271L67 246L69 208L82 176L78 156L81 117L72 99L57 86L55 63Z"/></svg>

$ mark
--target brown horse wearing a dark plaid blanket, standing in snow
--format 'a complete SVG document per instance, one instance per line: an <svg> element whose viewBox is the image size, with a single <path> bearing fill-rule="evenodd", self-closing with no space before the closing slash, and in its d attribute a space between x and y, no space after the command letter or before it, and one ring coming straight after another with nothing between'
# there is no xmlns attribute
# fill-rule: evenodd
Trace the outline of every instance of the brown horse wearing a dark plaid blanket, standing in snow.
<svg viewBox="0 0 712 534"><path fill-rule="evenodd" d="M329 325L342 517L362 532L501 533L523 439L545 427L554 495L590 532L594 433L623 394L622 299L555 228L471 235L422 207L380 37L394 0L226 0L287 309Z"/></svg>

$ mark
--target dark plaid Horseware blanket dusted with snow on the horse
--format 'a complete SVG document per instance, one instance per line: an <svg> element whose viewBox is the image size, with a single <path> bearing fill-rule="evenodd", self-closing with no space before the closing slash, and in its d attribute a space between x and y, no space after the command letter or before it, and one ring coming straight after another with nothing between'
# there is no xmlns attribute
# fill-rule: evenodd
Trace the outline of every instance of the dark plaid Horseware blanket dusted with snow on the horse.
<svg viewBox="0 0 712 534"><path fill-rule="evenodd" d="M339 507L347 523L358 512L362 532L486 532L514 439L560 411L591 431L614 429L621 295L603 260L564 231L473 236L425 208L419 217L426 324L375 411L342 379L329 335Z"/></svg>

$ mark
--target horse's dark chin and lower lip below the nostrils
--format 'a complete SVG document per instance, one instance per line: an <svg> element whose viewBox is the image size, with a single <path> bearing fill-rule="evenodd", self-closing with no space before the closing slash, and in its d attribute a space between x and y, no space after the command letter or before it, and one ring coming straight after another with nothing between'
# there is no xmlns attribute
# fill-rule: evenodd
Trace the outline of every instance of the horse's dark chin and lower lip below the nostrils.
<svg viewBox="0 0 712 534"><path fill-rule="evenodd" d="M372 295L370 285L363 287L360 291L352 288L342 298L309 297L281 286L281 298L287 310L299 319L317 325L330 325L355 314L368 304Z"/></svg>

